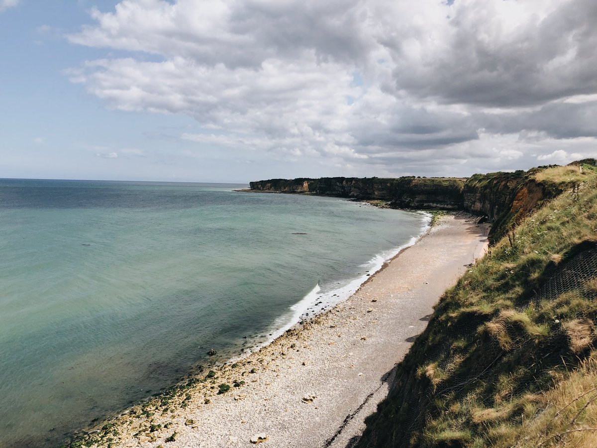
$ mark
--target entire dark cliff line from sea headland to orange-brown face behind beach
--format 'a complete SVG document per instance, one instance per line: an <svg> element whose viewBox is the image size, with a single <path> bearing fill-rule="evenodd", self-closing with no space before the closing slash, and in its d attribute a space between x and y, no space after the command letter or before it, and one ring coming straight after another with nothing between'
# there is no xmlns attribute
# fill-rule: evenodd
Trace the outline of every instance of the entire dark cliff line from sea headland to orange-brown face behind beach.
<svg viewBox="0 0 597 448"><path fill-rule="evenodd" d="M584 159L570 165L595 166L595 159ZM444 177L322 177L321 179L269 179L251 182L251 190L293 194L313 194L352 198L355 200L384 200L393 208L463 210L487 216L493 226L490 241L494 243L506 235L532 211L552 200L574 185L574 177L545 173L538 167L513 173L474 174L468 179Z"/></svg>

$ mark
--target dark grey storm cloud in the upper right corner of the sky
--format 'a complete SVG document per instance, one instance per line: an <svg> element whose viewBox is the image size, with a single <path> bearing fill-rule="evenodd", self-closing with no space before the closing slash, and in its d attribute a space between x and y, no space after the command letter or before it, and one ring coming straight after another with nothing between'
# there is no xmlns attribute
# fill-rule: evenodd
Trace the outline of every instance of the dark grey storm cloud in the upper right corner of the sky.
<svg viewBox="0 0 597 448"><path fill-rule="evenodd" d="M515 14L533 2L488 1L482 8L457 3L466 5L455 11L444 44L423 41L427 51L416 55L423 63L408 51L408 40L388 45L398 62L396 89L489 107L540 105L597 90L597 2L559 2L524 22ZM512 10L513 23L488 19L504 8ZM408 65L413 69L404 70Z"/></svg>

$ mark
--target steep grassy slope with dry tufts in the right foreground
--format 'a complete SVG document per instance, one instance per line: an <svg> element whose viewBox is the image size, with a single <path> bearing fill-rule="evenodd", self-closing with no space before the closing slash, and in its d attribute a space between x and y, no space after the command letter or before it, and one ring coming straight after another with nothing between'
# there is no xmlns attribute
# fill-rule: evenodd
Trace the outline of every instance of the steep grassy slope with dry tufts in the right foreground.
<svg viewBox="0 0 597 448"><path fill-rule="evenodd" d="M597 446L597 281L537 295L597 241L597 172L570 170L541 171L576 185L442 296L359 447Z"/></svg>

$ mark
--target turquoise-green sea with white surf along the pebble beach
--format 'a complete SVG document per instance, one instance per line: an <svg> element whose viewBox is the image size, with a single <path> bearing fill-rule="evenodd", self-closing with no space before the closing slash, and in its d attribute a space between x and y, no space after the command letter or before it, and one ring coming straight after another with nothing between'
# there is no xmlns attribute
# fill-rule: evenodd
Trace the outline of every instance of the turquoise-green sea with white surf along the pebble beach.
<svg viewBox="0 0 597 448"><path fill-rule="evenodd" d="M268 342L427 222L242 187L0 180L0 446L59 444Z"/></svg>

